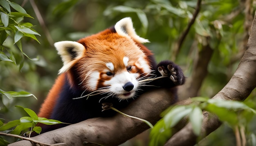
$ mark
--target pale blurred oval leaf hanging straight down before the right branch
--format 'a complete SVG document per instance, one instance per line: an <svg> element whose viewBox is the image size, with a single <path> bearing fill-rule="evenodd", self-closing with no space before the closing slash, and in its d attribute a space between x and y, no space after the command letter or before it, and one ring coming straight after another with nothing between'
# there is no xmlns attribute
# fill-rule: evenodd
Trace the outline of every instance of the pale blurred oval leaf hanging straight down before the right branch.
<svg viewBox="0 0 256 146"><path fill-rule="evenodd" d="M202 129L203 113L201 108L195 107L189 115L189 120L192 124L193 132L199 135Z"/></svg>

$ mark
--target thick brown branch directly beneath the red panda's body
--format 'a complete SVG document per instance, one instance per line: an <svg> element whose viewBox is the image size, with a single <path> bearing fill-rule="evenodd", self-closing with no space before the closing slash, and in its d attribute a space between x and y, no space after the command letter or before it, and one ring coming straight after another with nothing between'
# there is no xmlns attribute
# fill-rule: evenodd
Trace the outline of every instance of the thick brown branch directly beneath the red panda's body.
<svg viewBox="0 0 256 146"><path fill-rule="evenodd" d="M122 112L146 119L155 124L159 114L173 104L172 93L166 89L150 91L141 95ZM32 137L47 144L65 143L67 146L83 146L83 142L95 142L104 146L116 146L145 131L149 126L143 121L117 114L109 118L92 118L72 124L64 128ZM32 146L29 141L22 140L9 146ZM87 144L88 146L94 144Z"/></svg>

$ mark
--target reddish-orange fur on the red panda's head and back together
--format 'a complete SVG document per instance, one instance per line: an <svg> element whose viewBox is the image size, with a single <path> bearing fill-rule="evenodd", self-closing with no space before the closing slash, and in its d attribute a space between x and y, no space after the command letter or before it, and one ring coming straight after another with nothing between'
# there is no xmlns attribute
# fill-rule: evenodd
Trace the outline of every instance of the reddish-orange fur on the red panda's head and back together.
<svg viewBox="0 0 256 146"><path fill-rule="evenodd" d="M82 38L78 42L85 46L85 51L83 52L83 57L77 60L77 62L74 63L74 66L79 69L76 72L79 73L79 80L82 83L82 87L84 87L84 89L86 88L87 91L96 90L96 88L88 89L87 86L90 84L88 78L92 71L99 71L101 73L101 80L99 80L97 88L102 87L103 81L110 80L106 75L106 63L112 62L115 66L114 72L117 73L117 69L126 69L123 58L127 56L129 58L129 64L133 64L136 67L136 69L132 68L132 72L137 71L138 73L143 73L143 69L140 66L135 65L138 56L149 62L149 58L147 58L146 55L153 55L145 48L145 46L118 35L117 33L113 33L110 29ZM95 58L97 58L97 60L95 60ZM38 114L39 117L50 117L56 104L56 100L59 97L58 94L61 92L61 87L65 84L65 75L67 75L67 79L71 86L74 86L74 79L70 71L59 75L54 86L49 91L45 102L40 108Z"/></svg>

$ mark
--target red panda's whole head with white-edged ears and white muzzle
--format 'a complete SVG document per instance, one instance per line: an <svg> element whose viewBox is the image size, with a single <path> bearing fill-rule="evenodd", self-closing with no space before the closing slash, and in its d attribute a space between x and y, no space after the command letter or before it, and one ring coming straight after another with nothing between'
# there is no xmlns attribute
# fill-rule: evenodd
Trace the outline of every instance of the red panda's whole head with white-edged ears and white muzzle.
<svg viewBox="0 0 256 146"><path fill-rule="evenodd" d="M115 31L107 29L78 42L55 43L63 60L60 73L74 69L82 90L107 93L119 99L135 96L139 80L151 72L149 59L136 44L148 42L136 35L130 18L117 22ZM71 75L72 76L72 75Z"/></svg>

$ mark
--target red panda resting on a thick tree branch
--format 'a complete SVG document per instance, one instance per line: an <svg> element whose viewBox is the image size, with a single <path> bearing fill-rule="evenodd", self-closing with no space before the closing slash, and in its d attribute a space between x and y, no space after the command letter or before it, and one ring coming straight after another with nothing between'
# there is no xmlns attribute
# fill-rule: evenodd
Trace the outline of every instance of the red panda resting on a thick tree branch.
<svg viewBox="0 0 256 146"><path fill-rule="evenodd" d="M38 116L71 124L111 116L111 110L102 112L102 103L124 108L149 89L184 84L180 67L168 60L157 65L142 45L146 42L135 33L130 18L77 42L56 42L63 67ZM62 126L42 126L41 133Z"/></svg>

